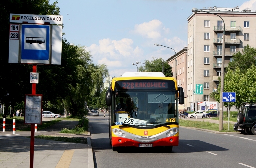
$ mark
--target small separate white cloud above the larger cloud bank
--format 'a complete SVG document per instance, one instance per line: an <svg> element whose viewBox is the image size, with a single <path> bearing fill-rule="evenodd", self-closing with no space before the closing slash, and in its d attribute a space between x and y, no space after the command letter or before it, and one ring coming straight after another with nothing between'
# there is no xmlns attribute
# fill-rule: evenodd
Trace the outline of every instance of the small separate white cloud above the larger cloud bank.
<svg viewBox="0 0 256 168"><path fill-rule="evenodd" d="M159 38L161 37L162 29L162 22L155 19L142 24L136 24L132 32L146 38Z"/></svg>

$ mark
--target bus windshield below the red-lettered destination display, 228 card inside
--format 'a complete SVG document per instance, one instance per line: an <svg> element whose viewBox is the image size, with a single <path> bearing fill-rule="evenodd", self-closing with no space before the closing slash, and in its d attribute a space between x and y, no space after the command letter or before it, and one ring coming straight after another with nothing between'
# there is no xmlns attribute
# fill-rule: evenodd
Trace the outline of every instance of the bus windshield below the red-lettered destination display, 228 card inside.
<svg viewBox="0 0 256 168"><path fill-rule="evenodd" d="M129 90L115 92L113 123L145 127L177 124L176 91Z"/></svg>

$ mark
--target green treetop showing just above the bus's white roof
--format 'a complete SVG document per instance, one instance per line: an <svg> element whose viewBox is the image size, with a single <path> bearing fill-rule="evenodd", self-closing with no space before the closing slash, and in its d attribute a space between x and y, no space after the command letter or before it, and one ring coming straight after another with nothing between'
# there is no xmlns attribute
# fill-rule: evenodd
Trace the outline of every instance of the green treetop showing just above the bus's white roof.
<svg viewBox="0 0 256 168"><path fill-rule="evenodd" d="M162 59L162 58L160 58ZM163 62L160 59L154 59L152 61L145 60L144 66L138 67L139 72L162 72ZM172 77L172 67L168 64L167 61L164 61L164 75L166 77Z"/></svg>

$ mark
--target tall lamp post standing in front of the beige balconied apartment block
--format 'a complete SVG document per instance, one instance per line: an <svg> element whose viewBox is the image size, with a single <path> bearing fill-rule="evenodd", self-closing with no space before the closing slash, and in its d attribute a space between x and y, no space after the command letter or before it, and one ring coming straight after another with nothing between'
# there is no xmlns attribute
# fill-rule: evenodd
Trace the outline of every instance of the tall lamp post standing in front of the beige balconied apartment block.
<svg viewBox="0 0 256 168"><path fill-rule="evenodd" d="M223 130L223 101L222 101L222 94L223 94L223 91L224 91L224 70L225 70L225 67L224 67L224 61L225 61L225 22L224 20L222 19L222 17L216 13L211 13L211 12L208 12L208 11L204 11L204 10L201 10L201 9L197 9L197 8L192 8L192 12L206 12L206 13L210 13L210 14L213 14L213 15L217 15L221 18L221 20L223 21L223 35L222 35L222 58L221 58L221 81L220 81L220 107L221 107L221 110L220 110L220 119L219 119L219 130Z"/></svg>

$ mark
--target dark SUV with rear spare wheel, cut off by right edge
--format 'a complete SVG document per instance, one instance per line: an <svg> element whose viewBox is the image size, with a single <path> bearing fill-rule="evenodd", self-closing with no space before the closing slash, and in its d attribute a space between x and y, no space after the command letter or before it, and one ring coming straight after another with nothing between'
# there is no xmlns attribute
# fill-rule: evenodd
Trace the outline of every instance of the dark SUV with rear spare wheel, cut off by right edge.
<svg viewBox="0 0 256 168"><path fill-rule="evenodd" d="M256 135L256 103L243 103L241 111L237 114L235 131Z"/></svg>

